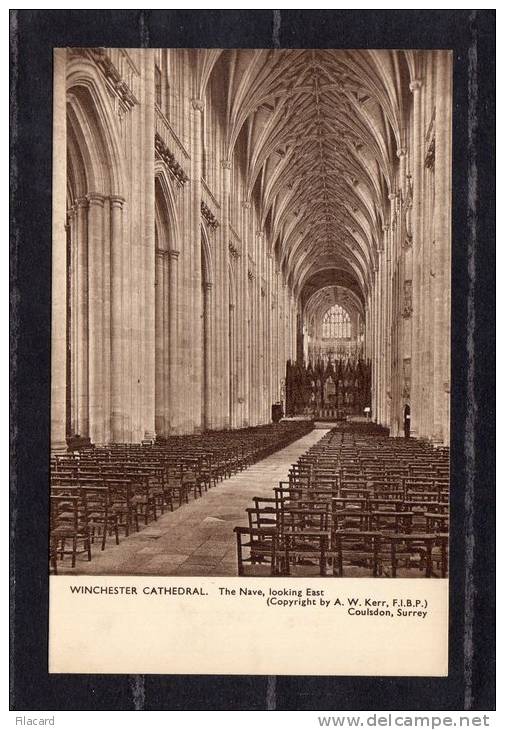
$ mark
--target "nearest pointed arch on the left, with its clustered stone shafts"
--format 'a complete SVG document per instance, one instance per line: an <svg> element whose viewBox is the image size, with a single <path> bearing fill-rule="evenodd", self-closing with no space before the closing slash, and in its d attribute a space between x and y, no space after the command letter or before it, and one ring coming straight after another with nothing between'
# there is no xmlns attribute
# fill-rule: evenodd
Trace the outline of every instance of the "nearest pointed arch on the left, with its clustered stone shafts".
<svg viewBox="0 0 505 730"><path fill-rule="evenodd" d="M108 94L81 55L67 75L67 438L124 437L121 285L125 170ZM110 349L111 358L102 352Z"/></svg>

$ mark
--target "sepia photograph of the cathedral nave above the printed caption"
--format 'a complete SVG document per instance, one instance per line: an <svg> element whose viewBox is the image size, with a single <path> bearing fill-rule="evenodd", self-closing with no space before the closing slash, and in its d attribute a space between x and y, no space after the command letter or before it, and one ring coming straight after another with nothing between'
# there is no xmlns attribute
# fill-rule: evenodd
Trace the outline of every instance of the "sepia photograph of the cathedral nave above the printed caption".
<svg viewBox="0 0 505 730"><path fill-rule="evenodd" d="M448 576L452 60L54 49L54 576Z"/></svg>

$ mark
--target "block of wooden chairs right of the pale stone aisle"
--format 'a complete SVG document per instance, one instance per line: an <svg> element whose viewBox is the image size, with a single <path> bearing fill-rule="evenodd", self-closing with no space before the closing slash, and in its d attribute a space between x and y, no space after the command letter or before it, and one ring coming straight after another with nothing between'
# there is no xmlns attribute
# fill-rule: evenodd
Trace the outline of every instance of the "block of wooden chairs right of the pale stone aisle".
<svg viewBox="0 0 505 730"><path fill-rule="evenodd" d="M239 575L399 567L447 574L449 453L380 432L334 429L292 465L270 498L236 528Z"/></svg>

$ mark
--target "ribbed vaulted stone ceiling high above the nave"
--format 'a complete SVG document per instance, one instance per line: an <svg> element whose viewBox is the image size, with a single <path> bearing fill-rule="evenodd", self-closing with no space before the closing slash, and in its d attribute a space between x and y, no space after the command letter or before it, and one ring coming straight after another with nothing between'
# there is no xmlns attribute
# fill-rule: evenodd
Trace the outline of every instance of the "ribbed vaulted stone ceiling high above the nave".
<svg viewBox="0 0 505 730"><path fill-rule="evenodd" d="M204 88L226 76L227 150L247 139L248 196L279 265L306 304L349 290L361 308L376 264L416 52L200 51ZM225 54L224 56L219 56ZM328 300L328 301L329 301Z"/></svg>

